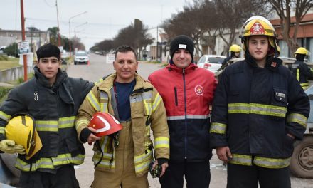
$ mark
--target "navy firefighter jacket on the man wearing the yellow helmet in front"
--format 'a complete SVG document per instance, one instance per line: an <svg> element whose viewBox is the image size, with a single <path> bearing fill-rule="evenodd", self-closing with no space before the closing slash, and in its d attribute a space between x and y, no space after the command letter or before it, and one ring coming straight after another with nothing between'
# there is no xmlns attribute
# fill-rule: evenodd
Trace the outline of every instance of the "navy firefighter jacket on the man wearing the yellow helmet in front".
<svg viewBox="0 0 313 188"><path fill-rule="evenodd" d="M211 125L213 147L228 146L231 164L279 169L290 164L294 135L301 140L309 98L279 58L257 66L247 53L218 80Z"/></svg>

